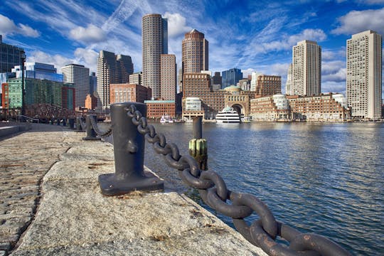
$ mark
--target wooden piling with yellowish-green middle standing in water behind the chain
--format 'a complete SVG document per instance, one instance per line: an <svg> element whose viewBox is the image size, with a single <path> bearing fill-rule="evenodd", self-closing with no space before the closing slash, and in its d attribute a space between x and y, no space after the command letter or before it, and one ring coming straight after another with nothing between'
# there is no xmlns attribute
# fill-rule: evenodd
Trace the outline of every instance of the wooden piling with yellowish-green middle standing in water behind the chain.
<svg viewBox="0 0 384 256"><path fill-rule="evenodd" d="M203 137L203 124L201 117L193 118L193 139L189 141L189 154L198 162L201 170L208 170L208 146Z"/></svg>

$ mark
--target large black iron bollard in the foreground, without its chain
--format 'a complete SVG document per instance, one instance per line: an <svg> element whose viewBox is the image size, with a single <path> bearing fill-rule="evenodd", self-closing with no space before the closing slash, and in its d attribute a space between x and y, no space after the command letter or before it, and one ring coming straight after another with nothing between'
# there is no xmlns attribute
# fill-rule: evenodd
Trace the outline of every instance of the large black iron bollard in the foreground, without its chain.
<svg viewBox="0 0 384 256"><path fill-rule="evenodd" d="M101 192L105 196L164 189L164 181L153 174L144 174L144 136L137 132L137 126L127 117L126 109L132 104L146 116L146 105L142 103L116 103L110 108L115 172L99 176Z"/></svg>

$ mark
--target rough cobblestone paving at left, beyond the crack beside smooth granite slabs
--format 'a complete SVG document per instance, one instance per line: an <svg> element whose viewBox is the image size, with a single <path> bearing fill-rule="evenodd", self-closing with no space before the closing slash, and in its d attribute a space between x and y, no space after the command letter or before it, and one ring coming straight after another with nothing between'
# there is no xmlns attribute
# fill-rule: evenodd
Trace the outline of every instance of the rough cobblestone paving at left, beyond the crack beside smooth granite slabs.
<svg viewBox="0 0 384 256"><path fill-rule="evenodd" d="M32 127L0 140L0 255L11 250L28 227L40 198L41 179L68 150L62 127Z"/></svg>

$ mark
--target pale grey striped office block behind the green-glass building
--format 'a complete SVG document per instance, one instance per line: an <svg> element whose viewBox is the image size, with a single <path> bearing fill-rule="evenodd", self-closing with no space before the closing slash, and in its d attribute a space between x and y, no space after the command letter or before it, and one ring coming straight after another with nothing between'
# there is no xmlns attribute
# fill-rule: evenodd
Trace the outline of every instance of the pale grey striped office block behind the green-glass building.
<svg viewBox="0 0 384 256"><path fill-rule="evenodd" d="M90 93L90 69L84 65L69 64L61 68L63 82L75 85L75 107L85 107L85 98Z"/></svg>

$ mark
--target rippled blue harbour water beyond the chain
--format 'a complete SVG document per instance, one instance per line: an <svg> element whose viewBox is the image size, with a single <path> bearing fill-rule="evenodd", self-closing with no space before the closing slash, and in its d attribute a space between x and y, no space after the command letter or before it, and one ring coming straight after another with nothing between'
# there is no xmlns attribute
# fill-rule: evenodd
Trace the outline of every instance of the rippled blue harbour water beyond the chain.
<svg viewBox="0 0 384 256"><path fill-rule="evenodd" d="M188 154L192 124L154 125ZM204 124L203 137L208 168L230 190L252 193L277 220L353 255L384 255L384 124ZM171 190L188 191L149 144L145 164Z"/></svg>

